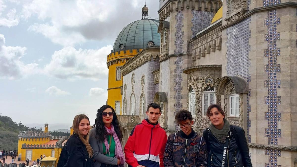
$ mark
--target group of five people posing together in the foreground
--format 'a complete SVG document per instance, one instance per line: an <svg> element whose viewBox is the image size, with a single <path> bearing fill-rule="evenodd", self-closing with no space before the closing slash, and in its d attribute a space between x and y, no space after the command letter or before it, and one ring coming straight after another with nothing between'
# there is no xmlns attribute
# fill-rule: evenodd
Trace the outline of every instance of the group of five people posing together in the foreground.
<svg viewBox="0 0 297 167"><path fill-rule="evenodd" d="M160 111L158 104L149 104L148 118L132 129L125 146L118 116L110 105L97 110L91 130L86 115L75 116L74 133L57 167L123 167L125 162L132 167L252 167L244 130L229 124L220 105L208 107L211 125L202 135L192 129L191 113L180 110L175 121L181 130L167 137L158 123Z"/></svg>

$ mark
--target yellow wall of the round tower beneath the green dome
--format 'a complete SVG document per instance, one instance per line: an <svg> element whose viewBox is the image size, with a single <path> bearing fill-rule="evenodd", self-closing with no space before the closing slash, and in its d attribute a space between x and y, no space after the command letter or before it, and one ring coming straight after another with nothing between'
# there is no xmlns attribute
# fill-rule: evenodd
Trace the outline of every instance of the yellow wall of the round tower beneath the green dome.
<svg viewBox="0 0 297 167"><path fill-rule="evenodd" d="M126 59L132 58L142 49L132 49L127 50L126 53L124 51L110 53L107 56L107 64L113 62L108 66L108 96L107 96L107 104L115 108L116 101L119 101L122 105L122 95L120 86L123 85L123 77L121 80L116 80L116 70L118 67L121 67L126 63ZM122 114L122 113L121 113Z"/></svg>

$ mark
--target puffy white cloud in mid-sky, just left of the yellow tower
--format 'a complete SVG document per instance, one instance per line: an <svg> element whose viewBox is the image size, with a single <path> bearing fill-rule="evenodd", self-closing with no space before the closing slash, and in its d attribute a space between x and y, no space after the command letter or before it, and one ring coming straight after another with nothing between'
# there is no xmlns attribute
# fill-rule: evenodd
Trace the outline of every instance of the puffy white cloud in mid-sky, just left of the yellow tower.
<svg viewBox="0 0 297 167"><path fill-rule="evenodd" d="M97 81L108 76L106 56L112 49L111 45L98 50L78 49L73 47L55 51L45 72L61 79L91 79Z"/></svg>

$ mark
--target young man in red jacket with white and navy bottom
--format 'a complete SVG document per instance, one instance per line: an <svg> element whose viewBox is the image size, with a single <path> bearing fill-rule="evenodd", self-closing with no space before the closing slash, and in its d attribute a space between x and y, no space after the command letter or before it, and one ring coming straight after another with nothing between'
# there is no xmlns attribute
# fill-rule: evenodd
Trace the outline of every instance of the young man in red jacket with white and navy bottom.
<svg viewBox="0 0 297 167"><path fill-rule="evenodd" d="M158 124L161 107L157 103L148 105L148 119L136 125L125 145L126 163L132 167L164 167L163 156L167 135Z"/></svg>

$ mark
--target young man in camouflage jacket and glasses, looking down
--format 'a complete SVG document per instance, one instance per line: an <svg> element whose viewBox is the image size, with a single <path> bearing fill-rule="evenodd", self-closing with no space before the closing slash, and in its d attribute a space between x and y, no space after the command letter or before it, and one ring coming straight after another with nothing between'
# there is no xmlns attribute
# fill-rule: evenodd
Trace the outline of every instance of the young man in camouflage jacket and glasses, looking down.
<svg viewBox="0 0 297 167"><path fill-rule="evenodd" d="M187 110L179 111L175 120L180 131L168 136L163 157L164 166L205 167L207 154L203 136L192 129L194 121Z"/></svg>

